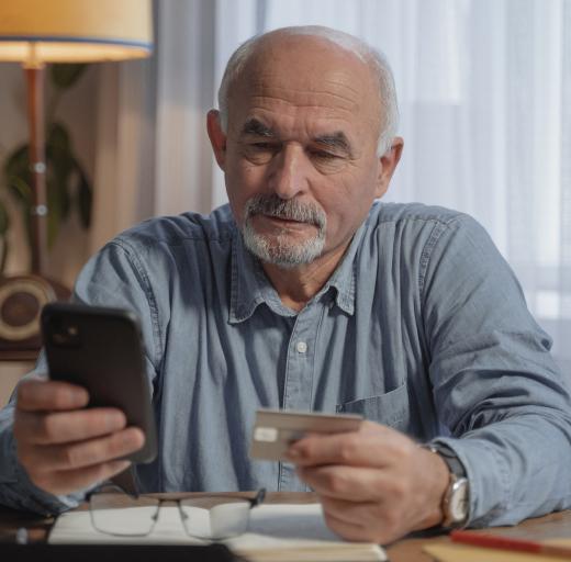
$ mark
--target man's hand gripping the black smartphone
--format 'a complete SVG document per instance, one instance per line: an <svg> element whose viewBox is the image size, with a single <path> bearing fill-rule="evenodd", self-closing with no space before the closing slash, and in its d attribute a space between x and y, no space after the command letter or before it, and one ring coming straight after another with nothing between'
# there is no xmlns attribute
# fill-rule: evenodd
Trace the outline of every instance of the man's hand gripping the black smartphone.
<svg viewBox="0 0 571 562"><path fill-rule="evenodd" d="M85 389L63 382L26 381L18 389L18 458L46 492L68 494L107 480L130 464L114 459L143 447L143 431L125 429L121 411L81 409L88 402Z"/></svg>

